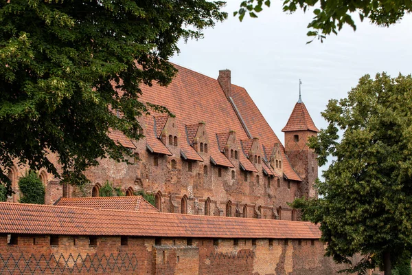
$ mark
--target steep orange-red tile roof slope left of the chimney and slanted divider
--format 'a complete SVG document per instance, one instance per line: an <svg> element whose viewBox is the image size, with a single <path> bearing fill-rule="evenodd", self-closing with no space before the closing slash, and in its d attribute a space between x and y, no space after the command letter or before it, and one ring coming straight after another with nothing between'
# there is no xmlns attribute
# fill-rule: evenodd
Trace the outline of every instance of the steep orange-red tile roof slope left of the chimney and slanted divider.
<svg viewBox="0 0 412 275"><path fill-rule="evenodd" d="M181 137L179 146L185 143L185 140L183 140L185 137L188 140L187 144L193 141L193 139L190 139L196 133L193 129L187 131L187 126L197 125L199 121L205 122L207 132L210 135L227 133L233 130L236 131L238 138L249 138L231 103L222 91L218 80L179 65L175 65L175 67L179 70L179 73L176 74L168 87L161 87L155 85L155 83L152 87L143 85L139 100L163 105L176 115L176 118L179 118L179 123L181 123L179 124L179 137ZM150 135L153 135L153 133L148 131L146 137L149 138ZM208 145L209 154L214 162L218 165L233 167L229 159L221 153L216 138L210 138ZM190 148L192 147L190 146ZM192 150L194 149L192 148ZM183 153L187 155L187 153ZM245 166L253 166L249 159L246 157L244 159L246 159L244 162L249 162Z"/></svg>

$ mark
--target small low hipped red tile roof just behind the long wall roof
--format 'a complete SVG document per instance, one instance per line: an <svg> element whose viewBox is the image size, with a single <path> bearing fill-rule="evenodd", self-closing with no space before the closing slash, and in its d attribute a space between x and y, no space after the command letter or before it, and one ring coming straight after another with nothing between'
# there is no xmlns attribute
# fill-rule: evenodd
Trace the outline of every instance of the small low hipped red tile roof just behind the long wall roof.
<svg viewBox="0 0 412 275"><path fill-rule="evenodd" d="M155 206L152 206L141 196L61 198L56 201L55 205L79 208L159 212Z"/></svg>

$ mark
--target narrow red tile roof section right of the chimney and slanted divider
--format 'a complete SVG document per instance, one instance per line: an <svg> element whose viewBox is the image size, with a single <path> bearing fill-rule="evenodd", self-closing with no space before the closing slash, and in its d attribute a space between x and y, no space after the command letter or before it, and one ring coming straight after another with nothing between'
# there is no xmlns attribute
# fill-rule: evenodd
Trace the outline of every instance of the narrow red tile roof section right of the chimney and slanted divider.
<svg viewBox="0 0 412 275"><path fill-rule="evenodd" d="M239 113L242 115L244 123L246 124L251 136L258 137L260 144L282 144L275 135L275 132L271 129L271 126L269 126L268 122L264 119L262 113L260 113L258 107L255 102L253 102L246 89L232 84L231 91L231 98L236 104ZM287 159L283 145L282 155L283 159ZM289 161L284 162L283 171L284 175L288 179L301 181L301 178L297 175L295 170L293 170Z"/></svg>

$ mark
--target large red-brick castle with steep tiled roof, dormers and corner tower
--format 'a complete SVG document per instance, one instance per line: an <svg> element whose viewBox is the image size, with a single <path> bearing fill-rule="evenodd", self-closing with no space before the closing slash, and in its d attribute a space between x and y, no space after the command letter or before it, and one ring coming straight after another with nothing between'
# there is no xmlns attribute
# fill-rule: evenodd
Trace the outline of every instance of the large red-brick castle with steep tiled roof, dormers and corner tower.
<svg viewBox="0 0 412 275"><path fill-rule="evenodd" d="M316 155L306 142L319 131L300 97L282 129L282 146L247 91L231 83L229 70L220 71L216 80L175 66L179 72L168 87L141 87L139 98L175 116L141 116L145 137L138 141L109 133L133 151L135 157L128 159L133 165L100 159L99 166L86 171L91 185L82 190L60 186L40 170L46 204L59 197L96 197L110 181L126 195L139 190L154 194L161 212L298 219L287 203L317 196ZM25 169L10 170L15 195L8 201L18 201L17 181Z"/></svg>

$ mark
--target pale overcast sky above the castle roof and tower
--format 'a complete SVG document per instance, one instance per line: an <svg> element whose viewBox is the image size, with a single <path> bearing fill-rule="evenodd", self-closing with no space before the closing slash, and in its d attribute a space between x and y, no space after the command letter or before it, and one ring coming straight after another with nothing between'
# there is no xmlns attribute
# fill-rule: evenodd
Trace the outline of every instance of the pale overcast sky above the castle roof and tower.
<svg viewBox="0 0 412 275"><path fill-rule="evenodd" d="M219 69L230 69L232 83L247 89L282 142L299 78L302 99L320 129L326 126L320 113L328 100L345 97L361 76L412 72L410 15L390 28L357 21L356 32L346 26L338 36L306 45L312 11L285 14L281 1L272 1L258 19L245 17L241 23L233 17L239 4L229 0L229 19L205 30L204 39L181 43L181 53L171 61L213 78Z"/></svg>

